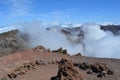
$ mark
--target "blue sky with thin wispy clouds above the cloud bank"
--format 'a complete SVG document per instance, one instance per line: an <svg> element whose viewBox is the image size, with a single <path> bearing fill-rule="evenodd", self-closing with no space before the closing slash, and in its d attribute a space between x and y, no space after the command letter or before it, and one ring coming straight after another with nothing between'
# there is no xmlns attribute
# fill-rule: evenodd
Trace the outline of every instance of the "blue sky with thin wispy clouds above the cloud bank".
<svg viewBox="0 0 120 80"><path fill-rule="evenodd" d="M120 0L0 0L0 26L32 20L120 23Z"/></svg>

